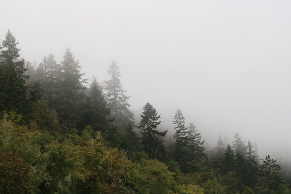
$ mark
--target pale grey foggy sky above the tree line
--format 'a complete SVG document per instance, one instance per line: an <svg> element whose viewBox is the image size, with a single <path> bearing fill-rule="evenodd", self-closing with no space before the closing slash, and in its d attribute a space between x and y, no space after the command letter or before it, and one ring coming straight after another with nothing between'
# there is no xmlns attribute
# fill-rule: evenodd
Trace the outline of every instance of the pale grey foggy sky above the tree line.
<svg viewBox="0 0 291 194"><path fill-rule="evenodd" d="M228 131L291 148L291 1L2 0L0 13L0 39L10 29L31 62L68 47L102 82L114 58L133 110L150 102L171 127L179 107L214 144Z"/></svg>

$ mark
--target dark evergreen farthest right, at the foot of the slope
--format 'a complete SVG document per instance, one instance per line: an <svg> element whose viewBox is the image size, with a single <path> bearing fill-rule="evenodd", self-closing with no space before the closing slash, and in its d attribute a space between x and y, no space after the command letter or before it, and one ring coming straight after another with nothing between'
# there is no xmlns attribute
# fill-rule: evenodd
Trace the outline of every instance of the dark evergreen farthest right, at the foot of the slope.
<svg viewBox="0 0 291 194"><path fill-rule="evenodd" d="M283 178L279 175L281 166L276 164L276 160L269 155L263 160L260 170L260 182L262 187L271 194L272 191L277 191L280 183L283 183Z"/></svg>

